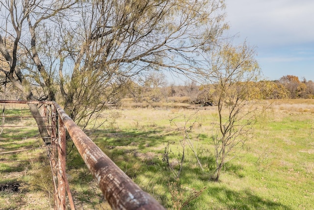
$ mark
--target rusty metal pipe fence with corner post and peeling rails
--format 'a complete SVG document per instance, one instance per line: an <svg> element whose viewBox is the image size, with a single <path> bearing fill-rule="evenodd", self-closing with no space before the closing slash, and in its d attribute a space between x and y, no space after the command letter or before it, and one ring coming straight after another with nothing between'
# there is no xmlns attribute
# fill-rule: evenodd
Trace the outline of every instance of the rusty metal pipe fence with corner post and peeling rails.
<svg viewBox="0 0 314 210"><path fill-rule="evenodd" d="M56 210L65 210L66 201L69 202L71 210L75 210L66 176L66 130L112 209L164 210L164 207L116 166L56 102L0 100L0 103L44 105L42 117L48 119L47 130L51 138L50 144L46 144L52 170Z"/></svg>

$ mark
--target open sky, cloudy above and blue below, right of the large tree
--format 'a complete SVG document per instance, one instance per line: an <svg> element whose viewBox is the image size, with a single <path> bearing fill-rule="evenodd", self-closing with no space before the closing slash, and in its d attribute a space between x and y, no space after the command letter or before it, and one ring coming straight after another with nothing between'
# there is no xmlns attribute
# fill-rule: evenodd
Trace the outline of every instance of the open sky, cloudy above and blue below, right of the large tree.
<svg viewBox="0 0 314 210"><path fill-rule="evenodd" d="M229 35L256 47L263 77L314 81L314 0L225 0Z"/></svg>

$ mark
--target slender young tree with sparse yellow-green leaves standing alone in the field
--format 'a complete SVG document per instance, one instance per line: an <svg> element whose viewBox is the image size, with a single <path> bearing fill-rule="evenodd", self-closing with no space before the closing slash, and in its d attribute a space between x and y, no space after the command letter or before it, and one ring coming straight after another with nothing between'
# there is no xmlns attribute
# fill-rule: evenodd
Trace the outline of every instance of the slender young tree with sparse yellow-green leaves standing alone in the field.
<svg viewBox="0 0 314 210"><path fill-rule="evenodd" d="M213 179L216 181L225 163L238 154L246 140L252 138L255 109L250 105L256 103L256 93L252 90L258 83L253 82L257 82L260 76L254 57L254 50L246 43L240 46L227 44L210 57L208 78L218 111L211 134L216 161Z"/></svg>

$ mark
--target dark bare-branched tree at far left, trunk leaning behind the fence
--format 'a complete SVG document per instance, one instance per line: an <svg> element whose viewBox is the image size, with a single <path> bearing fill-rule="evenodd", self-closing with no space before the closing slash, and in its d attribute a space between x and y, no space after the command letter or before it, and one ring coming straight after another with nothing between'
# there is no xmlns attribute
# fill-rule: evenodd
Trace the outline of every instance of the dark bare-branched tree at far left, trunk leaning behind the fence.
<svg viewBox="0 0 314 210"><path fill-rule="evenodd" d="M36 66L38 75L41 75L40 84L43 89L47 89L47 99L54 100L52 92L52 80L49 77L45 67L43 66L36 45L35 29L40 22L49 19L56 12L60 12L69 8L72 5L70 1L16 1L6 0L0 2L1 23L0 29L5 34L2 38L0 34L0 52L6 63L2 64L0 70L5 74L5 77L20 91L24 93L27 100L36 100L30 86L30 81L26 79L22 70L27 69L26 63L21 62L23 55L28 55L33 65ZM40 9L39 9L40 8ZM25 34L26 23L28 23L28 34ZM28 37L27 37L28 36ZM30 41L28 48L25 48L22 43L22 38L27 37ZM7 42L7 40L9 40ZM12 42L10 42L12 41ZM23 48L23 49L22 49ZM38 125L44 125L44 120L40 118L38 108L34 104L30 104L30 111ZM39 131L42 138L49 137L44 126L39 126Z"/></svg>

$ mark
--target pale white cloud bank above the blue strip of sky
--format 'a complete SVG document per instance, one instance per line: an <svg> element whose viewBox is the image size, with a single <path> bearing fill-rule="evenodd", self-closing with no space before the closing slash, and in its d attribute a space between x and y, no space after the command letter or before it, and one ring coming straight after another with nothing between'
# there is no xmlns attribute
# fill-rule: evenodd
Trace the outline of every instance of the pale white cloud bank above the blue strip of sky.
<svg viewBox="0 0 314 210"><path fill-rule="evenodd" d="M230 33L252 45L314 42L313 0L226 0Z"/></svg>

